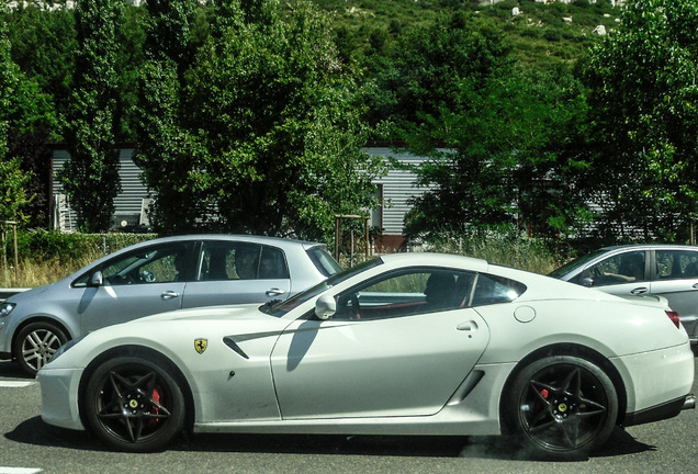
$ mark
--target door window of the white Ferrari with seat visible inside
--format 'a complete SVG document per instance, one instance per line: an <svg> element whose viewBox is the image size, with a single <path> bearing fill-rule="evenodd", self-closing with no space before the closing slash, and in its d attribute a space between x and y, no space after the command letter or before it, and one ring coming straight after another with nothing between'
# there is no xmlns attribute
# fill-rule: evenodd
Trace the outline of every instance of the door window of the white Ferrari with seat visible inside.
<svg viewBox="0 0 698 474"><path fill-rule="evenodd" d="M335 318L382 319L455 309L466 304L469 272L415 269L379 278L337 300Z"/></svg>

